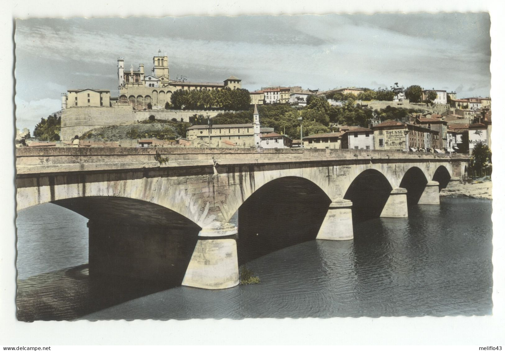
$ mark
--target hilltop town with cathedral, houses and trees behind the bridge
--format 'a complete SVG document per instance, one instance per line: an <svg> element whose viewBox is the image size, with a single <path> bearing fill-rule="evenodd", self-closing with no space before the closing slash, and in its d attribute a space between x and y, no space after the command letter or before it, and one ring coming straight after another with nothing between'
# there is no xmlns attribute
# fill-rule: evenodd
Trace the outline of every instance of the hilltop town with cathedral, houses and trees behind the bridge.
<svg viewBox="0 0 505 351"><path fill-rule="evenodd" d="M259 147L350 148L422 153L471 153L491 146L491 99L457 92L407 88L301 86L242 88L172 79L168 56L144 64L117 60L118 90L68 89L61 111L42 118L17 146L46 147ZM257 125L259 124L259 125Z"/></svg>

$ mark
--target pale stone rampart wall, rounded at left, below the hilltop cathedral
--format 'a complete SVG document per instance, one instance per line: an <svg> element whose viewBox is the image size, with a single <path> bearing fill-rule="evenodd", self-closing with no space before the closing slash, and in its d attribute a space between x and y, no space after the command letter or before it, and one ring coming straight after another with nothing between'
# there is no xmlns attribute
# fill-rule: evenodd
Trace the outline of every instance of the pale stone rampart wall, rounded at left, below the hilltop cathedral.
<svg viewBox="0 0 505 351"><path fill-rule="evenodd" d="M194 114L214 117L224 111L199 111L199 110L132 110L130 105L116 105L114 107L72 107L61 111L62 126L60 138L71 140L75 135L90 131L91 129L109 126L137 123L146 120L150 115L156 119L189 122L189 117Z"/></svg>

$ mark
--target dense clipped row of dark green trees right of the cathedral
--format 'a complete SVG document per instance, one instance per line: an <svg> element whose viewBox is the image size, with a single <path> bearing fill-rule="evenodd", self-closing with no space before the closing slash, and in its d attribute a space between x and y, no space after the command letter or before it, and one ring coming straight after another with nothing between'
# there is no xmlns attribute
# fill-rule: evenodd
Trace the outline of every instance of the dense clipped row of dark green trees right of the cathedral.
<svg viewBox="0 0 505 351"><path fill-rule="evenodd" d="M170 107L176 110L247 110L250 95L247 89L176 90L170 98Z"/></svg>

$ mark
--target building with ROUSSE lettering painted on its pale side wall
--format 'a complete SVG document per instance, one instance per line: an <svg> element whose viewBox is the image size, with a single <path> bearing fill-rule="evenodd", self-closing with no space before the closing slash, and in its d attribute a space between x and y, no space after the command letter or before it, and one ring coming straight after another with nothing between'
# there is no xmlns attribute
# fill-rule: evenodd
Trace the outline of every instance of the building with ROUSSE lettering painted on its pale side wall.
<svg viewBox="0 0 505 351"><path fill-rule="evenodd" d="M438 131L420 125L387 120L372 129L376 150L442 152Z"/></svg>

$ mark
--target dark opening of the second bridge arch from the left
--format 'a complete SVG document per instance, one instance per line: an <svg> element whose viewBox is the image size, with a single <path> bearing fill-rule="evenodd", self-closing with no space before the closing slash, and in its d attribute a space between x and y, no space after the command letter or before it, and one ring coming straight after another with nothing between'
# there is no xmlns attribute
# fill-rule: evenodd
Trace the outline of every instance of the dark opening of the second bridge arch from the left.
<svg viewBox="0 0 505 351"><path fill-rule="evenodd" d="M238 263L316 238L331 200L313 182L282 177L252 193L238 209Z"/></svg>

